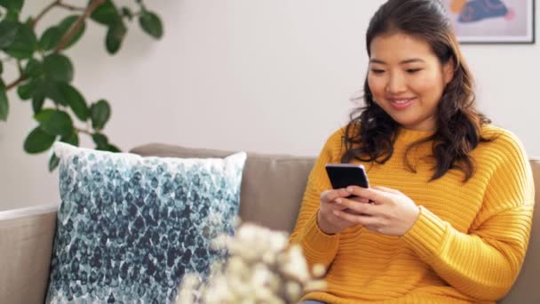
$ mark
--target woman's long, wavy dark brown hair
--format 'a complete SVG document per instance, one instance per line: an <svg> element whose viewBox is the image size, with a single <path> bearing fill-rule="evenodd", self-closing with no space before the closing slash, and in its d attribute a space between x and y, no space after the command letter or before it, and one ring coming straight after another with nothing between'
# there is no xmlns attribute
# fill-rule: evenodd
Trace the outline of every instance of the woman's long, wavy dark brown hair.
<svg viewBox="0 0 540 304"><path fill-rule="evenodd" d="M433 135L412 143L405 154L422 143L433 140L434 173L431 180L441 178L450 169L465 174L464 181L473 176L473 159L469 153L482 141L482 124L490 121L475 108L473 77L459 50L450 20L438 0L389 0L383 4L369 21L366 47L370 56L370 44L377 36L401 32L423 39L431 45L433 53L446 64L454 62L454 76L442 92L437 108L437 130ZM368 77L364 82L365 107L351 113L351 121L345 129L345 153L341 161L353 159L384 164L393 155L393 143L397 138L399 124L386 114L373 100Z"/></svg>

